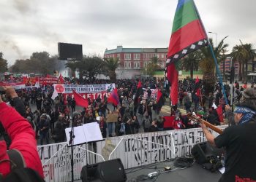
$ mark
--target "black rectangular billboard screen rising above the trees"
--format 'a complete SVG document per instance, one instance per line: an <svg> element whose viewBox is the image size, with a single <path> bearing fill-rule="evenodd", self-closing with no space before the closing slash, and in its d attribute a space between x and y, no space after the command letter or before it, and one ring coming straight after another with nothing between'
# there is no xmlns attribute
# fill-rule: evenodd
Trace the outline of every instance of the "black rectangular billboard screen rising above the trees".
<svg viewBox="0 0 256 182"><path fill-rule="evenodd" d="M81 44L58 43L59 60L82 60L83 46Z"/></svg>

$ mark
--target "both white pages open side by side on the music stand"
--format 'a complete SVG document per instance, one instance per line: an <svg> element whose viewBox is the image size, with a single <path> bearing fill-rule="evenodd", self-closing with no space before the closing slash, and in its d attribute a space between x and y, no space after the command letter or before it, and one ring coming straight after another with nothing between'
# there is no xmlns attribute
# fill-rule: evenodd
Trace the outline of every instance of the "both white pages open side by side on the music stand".
<svg viewBox="0 0 256 182"><path fill-rule="evenodd" d="M71 144L69 144L70 131L71 127L65 129L68 146L71 146ZM73 146L86 142L103 140L102 133L100 132L99 124L97 122L91 122L83 124L83 126L80 127L74 127L73 135L75 135Z"/></svg>

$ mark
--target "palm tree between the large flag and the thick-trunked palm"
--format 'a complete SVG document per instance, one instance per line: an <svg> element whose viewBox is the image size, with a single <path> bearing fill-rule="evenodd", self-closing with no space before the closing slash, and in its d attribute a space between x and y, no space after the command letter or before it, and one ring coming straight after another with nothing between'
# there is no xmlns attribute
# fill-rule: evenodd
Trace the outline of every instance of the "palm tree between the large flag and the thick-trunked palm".
<svg viewBox="0 0 256 182"><path fill-rule="evenodd" d="M190 71L190 78L193 79L194 70L198 70L198 52L191 52L181 60L181 68Z"/></svg>

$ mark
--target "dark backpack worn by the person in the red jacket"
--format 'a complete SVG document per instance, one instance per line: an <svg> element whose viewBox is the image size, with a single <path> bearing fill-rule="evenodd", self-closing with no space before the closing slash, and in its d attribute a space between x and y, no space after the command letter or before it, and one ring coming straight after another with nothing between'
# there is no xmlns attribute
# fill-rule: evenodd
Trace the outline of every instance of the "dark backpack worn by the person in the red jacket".
<svg viewBox="0 0 256 182"><path fill-rule="evenodd" d="M12 149L7 151L11 162L11 173L6 178L0 178L1 182L45 182L45 180L29 167L24 167L23 158L19 151Z"/></svg>

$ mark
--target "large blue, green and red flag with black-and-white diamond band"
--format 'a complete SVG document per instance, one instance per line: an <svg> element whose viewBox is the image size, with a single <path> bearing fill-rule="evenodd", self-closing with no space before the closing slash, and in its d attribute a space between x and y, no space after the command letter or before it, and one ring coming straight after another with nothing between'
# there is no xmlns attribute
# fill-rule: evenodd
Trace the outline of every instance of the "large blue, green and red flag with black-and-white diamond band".
<svg viewBox="0 0 256 182"><path fill-rule="evenodd" d="M178 103L178 60L208 44L206 31L193 0L178 0L166 60L172 105Z"/></svg>

